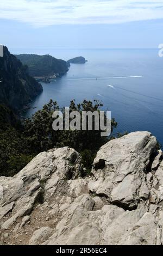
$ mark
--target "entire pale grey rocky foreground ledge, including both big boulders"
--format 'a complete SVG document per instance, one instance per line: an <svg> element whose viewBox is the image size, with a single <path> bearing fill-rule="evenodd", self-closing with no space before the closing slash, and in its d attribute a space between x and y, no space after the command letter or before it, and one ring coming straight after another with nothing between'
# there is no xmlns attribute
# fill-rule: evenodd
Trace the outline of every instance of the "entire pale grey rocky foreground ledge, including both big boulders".
<svg viewBox="0 0 163 256"><path fill-rule="evenodd" d="M163 157L149 132L105 144L89 177L71 148L0 177L1 243L162 245Z"/></svg>

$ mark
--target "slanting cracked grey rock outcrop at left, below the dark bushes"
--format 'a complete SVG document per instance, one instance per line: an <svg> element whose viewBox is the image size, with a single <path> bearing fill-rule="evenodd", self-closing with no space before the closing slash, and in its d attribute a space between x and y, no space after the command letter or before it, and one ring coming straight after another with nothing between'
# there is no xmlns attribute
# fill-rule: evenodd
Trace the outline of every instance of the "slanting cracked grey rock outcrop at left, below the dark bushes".
<svg viewBox="0 0 163 256"><path fill-rule="evenodd" d="M0 200L1 215L12 210L12 216L2 223L7 229L18 217L29 215L36 201L55 192L65 179L74 179L82 168L80 155L68 147L53 149L37 155L14 177L0 177L3 196Z"/></svg>

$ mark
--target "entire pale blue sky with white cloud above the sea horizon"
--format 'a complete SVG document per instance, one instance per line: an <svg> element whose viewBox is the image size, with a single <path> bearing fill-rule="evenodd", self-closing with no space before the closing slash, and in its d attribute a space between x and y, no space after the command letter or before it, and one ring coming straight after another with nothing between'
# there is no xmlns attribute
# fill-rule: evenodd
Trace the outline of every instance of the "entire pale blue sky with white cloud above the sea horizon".
<svg viewBox="0 0 163 256"><path fill-rule="evenodd" d="M157 48L163 0L1 0L9 48Z"/></svg>

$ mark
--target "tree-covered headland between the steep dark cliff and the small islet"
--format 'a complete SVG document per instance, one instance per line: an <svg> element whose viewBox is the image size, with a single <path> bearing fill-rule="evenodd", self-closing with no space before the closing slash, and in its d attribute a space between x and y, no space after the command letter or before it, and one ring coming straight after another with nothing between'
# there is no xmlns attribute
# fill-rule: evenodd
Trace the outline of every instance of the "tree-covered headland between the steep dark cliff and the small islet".
<svg viewBox="0 0 163 256"><path fill-rule="evenodd" d="M16 57L28 65L29 74L34 77L62 76L68 71L68 65L64 60L50 55L20 54Z"/></svg>

